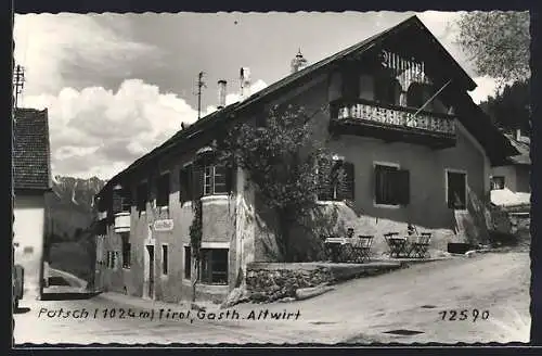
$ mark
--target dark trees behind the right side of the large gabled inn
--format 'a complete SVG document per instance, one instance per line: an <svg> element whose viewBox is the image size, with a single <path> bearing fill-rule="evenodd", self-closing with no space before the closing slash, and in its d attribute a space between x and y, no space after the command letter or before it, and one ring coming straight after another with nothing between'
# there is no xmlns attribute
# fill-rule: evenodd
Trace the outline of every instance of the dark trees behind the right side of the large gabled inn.
<svg viewBox="0 0 542 356"><path fill-rule="evenodd" d="M481 102L480 107L499 128L505 131L521 129L530 134L528 80L505 86L502 92Z"/></svg>

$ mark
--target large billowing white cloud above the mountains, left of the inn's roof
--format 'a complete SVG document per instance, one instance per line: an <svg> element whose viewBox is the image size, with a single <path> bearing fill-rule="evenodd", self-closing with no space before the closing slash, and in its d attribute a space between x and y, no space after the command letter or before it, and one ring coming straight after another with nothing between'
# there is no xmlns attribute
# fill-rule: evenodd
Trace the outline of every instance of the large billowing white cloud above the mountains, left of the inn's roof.
<svg viewBox="0 0 542 356"><path fill-rule="evenodd" d="M264 87L257 80L253 92ZM229 103L237 100L238 93L228 96ZM83 178L109 179L173 136L182 122L197 118L184 99L140 79L125 80L116 91L64 88L56 96L26 97L25 106L48 107L53 174Z"/></svg>

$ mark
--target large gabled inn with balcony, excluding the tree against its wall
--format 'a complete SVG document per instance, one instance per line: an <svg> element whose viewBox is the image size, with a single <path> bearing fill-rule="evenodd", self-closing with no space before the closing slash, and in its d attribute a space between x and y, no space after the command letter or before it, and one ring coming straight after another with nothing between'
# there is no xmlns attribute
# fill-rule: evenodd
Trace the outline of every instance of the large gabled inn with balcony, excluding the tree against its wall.
<svg viewBox="0 0 542 356"><path fill-rule="evenodd" d="M228 106L220 81L217 112L107 182L99 193L96 285L178 302L191 298L197 278L196 298L222 300L248 263L280 259L266 202L242 169L212 161L210 144L276 104L314 113L314 137L345 167L347 183L323 187L318 198L324 213L336 213L328 229L375 236L376 254L386 250L385 232L405 232L408 224L434 232L434 249L486 239L491 166L517 152L472 101L475 82L417 17L307 64L297 53L288 76ZM202 202L199 276L189 231L194 199Z"/></svg>

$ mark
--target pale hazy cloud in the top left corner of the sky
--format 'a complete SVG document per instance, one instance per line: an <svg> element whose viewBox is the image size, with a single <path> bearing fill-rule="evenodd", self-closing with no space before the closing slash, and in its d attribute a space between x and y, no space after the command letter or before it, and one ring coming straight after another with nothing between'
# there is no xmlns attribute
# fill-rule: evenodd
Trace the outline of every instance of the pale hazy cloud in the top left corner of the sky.
<svg viewBox="0 0 542 356"><path fill-rule="evenodd" d="M137 63L159 63L157 48L120 35L126 26L126 18L114 14L15 15L14 58L26 69L25 94L82 88L107 76L126 78Z"/></svg>

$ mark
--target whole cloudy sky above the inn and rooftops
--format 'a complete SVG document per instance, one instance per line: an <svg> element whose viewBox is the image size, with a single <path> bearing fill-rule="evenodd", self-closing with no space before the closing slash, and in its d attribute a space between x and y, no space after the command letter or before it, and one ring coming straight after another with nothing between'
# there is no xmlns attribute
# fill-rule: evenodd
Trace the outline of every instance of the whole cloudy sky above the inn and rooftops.
<svg viewBox="0 0 542 356"><path fill-rule="evenodd" d="M254 93L285 77L300 49L309 64L391 27L414 13L178 13L15 15L15 63L25 67L18 106L48 109L54 176L109 179L197 118L196 80L205 72L203 115L238 100L238 73ZM461 13L416 13L478 87L454 43Z"/></svg>

